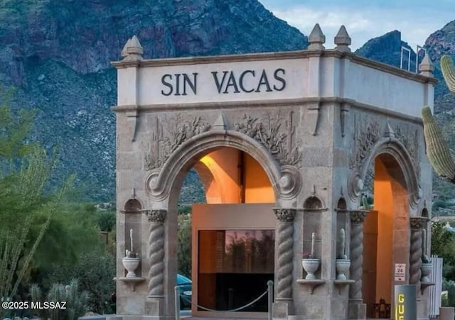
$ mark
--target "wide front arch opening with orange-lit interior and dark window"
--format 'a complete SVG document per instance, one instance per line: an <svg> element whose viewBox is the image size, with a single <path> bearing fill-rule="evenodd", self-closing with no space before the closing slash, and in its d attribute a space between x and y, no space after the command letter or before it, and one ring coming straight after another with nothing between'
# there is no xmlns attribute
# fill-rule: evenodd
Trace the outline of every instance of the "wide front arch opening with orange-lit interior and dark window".
<svg viewBox="0 0 455 320"><path fill-rule="evenodd" d="M238 138L226 142L224 137L223 140L199 137L176 150L178 154L171 155L168 163L171 158L180 162L173 162L168 171L164 171L164 165L162 172L166 172L166 177L158 178L171 183L166 197L168 256L175 252L175 244L170 240L176 236L178 196L188 170L194 168L198 172L205 189L207 204L193 204L191 212L191 313L196 316L218 313L204 311L196 304L225 313L255 299L267 289L267 281L274 280L276 217L272 208L279 195L277 184L271 182L269 175L272 173L277 181L277 168L263 150L248 142L237 148L239 144ZM168 180L169 177L173 180ZM174 279L176 261L166 265L165 273L168 280ZM171 282L166 284L168 292L173 289ZM168 302L168 306L171 304L173 301ZM247 314L267 311L266 297L242 311Z"/></svg>

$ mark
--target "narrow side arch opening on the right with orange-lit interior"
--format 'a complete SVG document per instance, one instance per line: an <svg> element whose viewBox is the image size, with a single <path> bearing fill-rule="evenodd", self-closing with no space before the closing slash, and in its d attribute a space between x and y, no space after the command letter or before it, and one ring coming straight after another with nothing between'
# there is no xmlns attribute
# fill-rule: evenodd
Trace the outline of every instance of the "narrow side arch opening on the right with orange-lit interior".
<svg viewBox="0 0 455 320"><path fill-rule="evenodd" d="M410 211L417 202L417 180L410 159L400 145L380 145L370 157L372 186L364 186L360 207L369 211L363 225L363 300L367 316L378 314L375 304L392 304L395 264L410 265ZM364 174L368 172L365 165ZM373 199L373 204L368 201Z"/></svg>

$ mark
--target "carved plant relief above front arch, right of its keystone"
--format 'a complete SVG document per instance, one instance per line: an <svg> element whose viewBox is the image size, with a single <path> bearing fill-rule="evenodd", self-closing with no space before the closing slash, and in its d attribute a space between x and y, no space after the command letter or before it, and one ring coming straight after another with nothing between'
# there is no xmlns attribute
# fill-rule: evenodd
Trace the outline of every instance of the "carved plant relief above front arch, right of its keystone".
<svg viewBox="0 0 455 320"><path fill-rule="evenodd" d="M261 116L244 114L234 124L236 131L245 133L266 147L280 165L301 167L300 144L295 137L294 111L267 111Z"/></svg>

